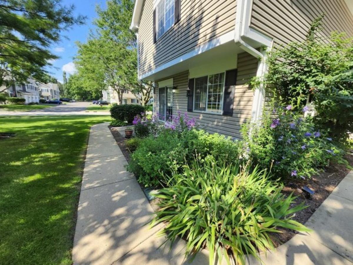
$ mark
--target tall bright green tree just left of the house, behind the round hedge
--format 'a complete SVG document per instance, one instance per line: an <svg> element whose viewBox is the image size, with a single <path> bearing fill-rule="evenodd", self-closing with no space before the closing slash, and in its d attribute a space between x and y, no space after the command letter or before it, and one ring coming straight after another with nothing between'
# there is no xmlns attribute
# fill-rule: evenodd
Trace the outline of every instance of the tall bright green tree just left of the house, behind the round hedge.
<svg viewBox="0 0 353 265"><path fill-rule="evenodd" d="M97 29L86 43L77 43L75 63L86 82L95 87L113 88L122 102L124 89L142 94L143 103L151 99L152 83L137 78L136 35L129 29L133 2L131 0L107 1L107 9L97 7Z"/></svg>

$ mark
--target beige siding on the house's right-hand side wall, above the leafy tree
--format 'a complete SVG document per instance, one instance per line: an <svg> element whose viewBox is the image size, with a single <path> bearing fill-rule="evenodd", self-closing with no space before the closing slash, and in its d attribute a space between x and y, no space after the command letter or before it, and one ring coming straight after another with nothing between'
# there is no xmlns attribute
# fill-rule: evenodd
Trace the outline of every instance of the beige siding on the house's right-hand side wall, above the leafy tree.
<svg viewBox="0 0 353 265"><path fill-rule="evenodd" d="M303 41L312 20L323 13L324 36L333 31L353 36L353 16L344 0L253 0L250 26L285 45Z"/></svg>

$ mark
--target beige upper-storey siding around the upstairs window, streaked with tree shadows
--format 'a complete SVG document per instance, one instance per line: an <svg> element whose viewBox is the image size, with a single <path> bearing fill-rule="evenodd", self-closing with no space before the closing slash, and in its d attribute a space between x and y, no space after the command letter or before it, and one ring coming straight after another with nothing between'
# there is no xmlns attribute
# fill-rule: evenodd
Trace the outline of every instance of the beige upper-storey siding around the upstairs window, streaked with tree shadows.
<svg viewBox="0 0 353 265"><path fill-rule="evenodd" d="M237 1L181 0L180 21L153 43L153 0L145 0L139 26L139 74L213 40L235 26Z"/></svg>

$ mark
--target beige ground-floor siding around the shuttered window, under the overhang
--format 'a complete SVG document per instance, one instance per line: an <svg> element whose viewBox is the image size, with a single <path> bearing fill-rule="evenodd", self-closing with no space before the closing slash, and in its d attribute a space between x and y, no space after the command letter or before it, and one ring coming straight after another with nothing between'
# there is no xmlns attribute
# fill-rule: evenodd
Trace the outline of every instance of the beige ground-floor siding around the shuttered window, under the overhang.
<svg viewBox="0 0 353 265"><path fill-rule="evenodd" d="M195 118L199 126L209 133L219 133L240 139L241 124L251 118L251 109L254 92L246 84L251 77L256 76L258 59L248 53L238 55L238 75L235 86L233 116L222 116L209 113L187 112L186 89L189 86L189 71L167 77L173 78L173 86L177 87L173 95L173 114L180 111L187 112L189 117ZM164 79L163 79L164 80ZM158 81L155 83L157 84ZM158 111L158 86L154 93L155 112Z"/></svg>

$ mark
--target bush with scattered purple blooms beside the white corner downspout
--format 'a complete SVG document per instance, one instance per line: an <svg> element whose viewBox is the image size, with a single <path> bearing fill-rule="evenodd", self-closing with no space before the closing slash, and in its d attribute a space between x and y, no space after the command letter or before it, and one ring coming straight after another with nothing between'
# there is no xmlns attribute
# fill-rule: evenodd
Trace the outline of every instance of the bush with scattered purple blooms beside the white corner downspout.
<svg viewBox="0 0 353 265"><path fill-rule="evenodd" d="M330 161L342 160L328 131L318 130L307 111L291 105L274 108L263 115L261 124L246 124L242 134L252 163L274 173L275 177L309 178ZM250 132L250 133L249 133Z"/></svg>

